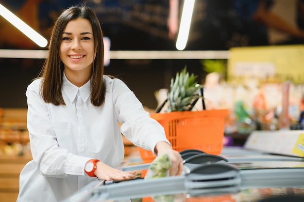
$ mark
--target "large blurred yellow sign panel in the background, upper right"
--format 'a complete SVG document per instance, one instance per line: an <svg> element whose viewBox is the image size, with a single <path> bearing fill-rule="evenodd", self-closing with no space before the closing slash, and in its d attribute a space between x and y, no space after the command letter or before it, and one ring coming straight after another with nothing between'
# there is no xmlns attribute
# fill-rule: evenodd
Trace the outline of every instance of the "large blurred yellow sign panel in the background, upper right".
<svg viewBox="0 0 304 202"><path fill-rule="evenodd" d="M304 45L231 48L227 73L228 82L275 78L304 83Z"/></svg>

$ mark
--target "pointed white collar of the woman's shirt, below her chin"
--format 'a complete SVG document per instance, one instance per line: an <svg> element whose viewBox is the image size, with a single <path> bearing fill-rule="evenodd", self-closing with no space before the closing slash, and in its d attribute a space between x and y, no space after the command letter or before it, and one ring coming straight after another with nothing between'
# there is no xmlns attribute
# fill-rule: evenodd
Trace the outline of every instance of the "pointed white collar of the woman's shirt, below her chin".
<svg viewBox="0 0 304 202"><path fill-rule="evenodd" d="M66 77L66 74L64 72L64 74L63 74L63 91L68 95L69 101L73 102L79 91L83 101L86 102L86 100L90 97L90 93L91 93L91 82L90 81L91 81L91 79L88 80L82 87L79 88L68 80L68 78Z"/></svg>

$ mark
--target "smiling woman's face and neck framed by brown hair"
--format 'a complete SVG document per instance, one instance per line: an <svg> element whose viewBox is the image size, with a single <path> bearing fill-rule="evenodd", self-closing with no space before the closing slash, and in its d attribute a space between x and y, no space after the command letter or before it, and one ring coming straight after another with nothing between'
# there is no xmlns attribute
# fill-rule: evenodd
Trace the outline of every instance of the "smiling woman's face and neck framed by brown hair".
<svg viewBox="0 0 304 202"><path fill-rule="evenodd" d="M62 33L59 55L64 63L66 76L72 83L75 79L78 79L76 83L83 84L89 80L92 62L96 56L89 20L79 17L68 22Z"/></svg>

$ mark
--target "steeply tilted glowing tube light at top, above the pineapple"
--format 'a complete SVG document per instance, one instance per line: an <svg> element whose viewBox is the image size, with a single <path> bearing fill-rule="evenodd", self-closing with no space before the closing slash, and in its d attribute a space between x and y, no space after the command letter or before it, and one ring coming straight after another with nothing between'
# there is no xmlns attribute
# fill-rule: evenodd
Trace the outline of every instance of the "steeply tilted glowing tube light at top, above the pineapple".
<svg viewBox="0 0 304 202"><path fill-rule="evenodd" d="M180 28L175 44L178 50L184 50L186 47L193 13L194 1L195 0L184 0Z"/></svg>

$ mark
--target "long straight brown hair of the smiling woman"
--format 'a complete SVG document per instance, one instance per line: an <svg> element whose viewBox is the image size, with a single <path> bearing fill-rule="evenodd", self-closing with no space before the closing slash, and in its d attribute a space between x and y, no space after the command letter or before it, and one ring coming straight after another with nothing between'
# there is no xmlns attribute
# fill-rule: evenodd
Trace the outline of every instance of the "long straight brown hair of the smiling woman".
<svg viewBox="0 0 304 202"><path fill-rule="evenodd" d="M91 103L101 106L105 98L105 85L103 85L103 33L101 25L94 11L85 5L74 5L65 10L56 20L51 32L51 41L48 57L42 66L39 77L43 78L41 93L45 102L54 105L65 105L62 96L62 79L64 64L60 60L59 51L62 33L68 22L78 17L85 18L91 22L94 49L96 57L93 61L91 76Z"/></svg>

